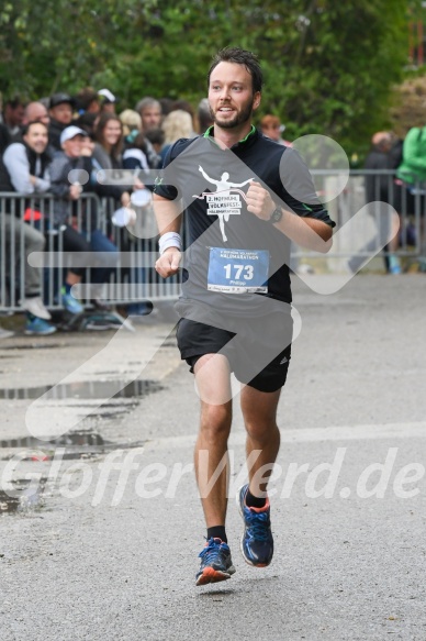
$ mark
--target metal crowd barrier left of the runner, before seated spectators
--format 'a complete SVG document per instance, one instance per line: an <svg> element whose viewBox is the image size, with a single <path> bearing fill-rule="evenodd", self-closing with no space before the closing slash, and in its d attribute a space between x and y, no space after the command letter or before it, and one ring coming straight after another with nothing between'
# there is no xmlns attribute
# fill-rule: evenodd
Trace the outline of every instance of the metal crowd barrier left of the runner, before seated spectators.
<svg viewBox="0 0 426 641"><path fill-rule="evenodd" d="M90 242L94 230L100 230L117 247L117 252L93 252L91 255L64 252L60 228L55 225L54 197L33 198L15 194L0 194L0 312L18 311L19 299L25 292L29 225L38 232L37 252L44 251L41 272L43 300L49 309L60 309L60 288L67 267L85 267L80 291L90 298L92 269L98 263L111 269L109 281L102 288L105 302L128 305L145 300L176 300L180 280L176 276L165 281L154 269L158 256L157 228L150 206L135 208L136 220L127 226L114 226L111 218L117 209L113 199L100 199L92 194L81 195L69 206L68 224ZM34 239L32 239L34 241Z"/></svg>

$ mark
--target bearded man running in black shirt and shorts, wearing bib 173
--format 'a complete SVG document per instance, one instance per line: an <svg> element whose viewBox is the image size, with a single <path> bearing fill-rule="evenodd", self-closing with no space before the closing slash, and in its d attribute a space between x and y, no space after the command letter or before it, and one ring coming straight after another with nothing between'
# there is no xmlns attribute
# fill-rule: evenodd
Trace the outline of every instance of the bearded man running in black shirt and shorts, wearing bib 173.
<svg viewBox="0 0 426 641"><path fill-rule="evenodd" d="M164 278L180 266L186 269L177 338L201 402L194 462L206 543L197 585L227 579L235 572L225 529L232 373L242 383L249 472L237 496L244 520L240 549L253 566L265 567L272 560L267 486L280 446L277 406L291 355L290 240L326 252L334 226L312 198L315 189L299 155L251 124L262 89L257 57L240 48L222 49L209 70L208 88L214 124L204 136L171 146L154 195L160 230L156 269ZM306 192L303 202L282 185L287 158L292 175L298 169L298 194L301 186ZM234 187L224 199L209 194L210 176L225 176L226 185L239 184L238 189L248 181L245 197L233 194ZM180 199L189 230L184 264ZM228 215L225 240L220 221L232 209L239 215Z"/></svg>

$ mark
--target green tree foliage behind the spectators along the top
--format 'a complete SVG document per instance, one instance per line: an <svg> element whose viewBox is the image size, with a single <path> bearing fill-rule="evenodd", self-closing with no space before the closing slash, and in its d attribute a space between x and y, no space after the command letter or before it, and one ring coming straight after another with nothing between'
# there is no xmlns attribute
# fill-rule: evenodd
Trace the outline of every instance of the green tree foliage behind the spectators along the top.
<svg viewBox="0 0 426 641"><path fill-rule="evenodd" d="M279 114L290 139L328 134L351 153L385 123L407 21L401 0L7 0L1 90L107 86L122 107L146 95L197 104L212 55L238 45L262 62L259 115Z"/></svg>

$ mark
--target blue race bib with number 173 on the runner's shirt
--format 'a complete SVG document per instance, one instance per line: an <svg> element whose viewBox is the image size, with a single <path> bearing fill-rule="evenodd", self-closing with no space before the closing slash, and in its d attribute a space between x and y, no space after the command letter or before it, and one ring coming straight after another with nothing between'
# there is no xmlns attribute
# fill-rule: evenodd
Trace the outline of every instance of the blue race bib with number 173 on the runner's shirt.
<svg viewBox="0 0 426 641"><path fill-rule="evenodd" d="M267 294L269 252L210 247L208 289L228 294Z"/></svg>

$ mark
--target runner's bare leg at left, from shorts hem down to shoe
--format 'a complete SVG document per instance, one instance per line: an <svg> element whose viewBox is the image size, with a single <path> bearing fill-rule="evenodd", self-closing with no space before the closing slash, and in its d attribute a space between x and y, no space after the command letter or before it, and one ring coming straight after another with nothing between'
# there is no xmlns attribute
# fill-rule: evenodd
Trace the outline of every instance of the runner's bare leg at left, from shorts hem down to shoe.
<svg viewBox="0 0 426 641"><path fill-rule="evenodd" d="M201 400L200 431L195 443L197 483L208 528L197 585L231 578L235 568L226 541L225 519L229 463L227 440L232 422L229 365L225 356L205 354L194 366Z"/></svg>

